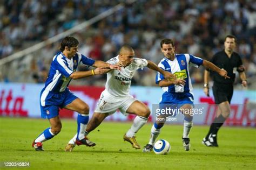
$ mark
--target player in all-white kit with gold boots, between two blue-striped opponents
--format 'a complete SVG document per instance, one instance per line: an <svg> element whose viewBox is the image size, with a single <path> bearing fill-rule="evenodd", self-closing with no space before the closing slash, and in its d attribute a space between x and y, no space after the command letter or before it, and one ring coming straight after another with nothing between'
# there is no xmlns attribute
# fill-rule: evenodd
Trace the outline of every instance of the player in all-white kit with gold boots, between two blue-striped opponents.
<svg viewBox="0 0 256 170"><path fill-rule="evenodd" d="M137 115L134 118L131 128L124 134L124 140L132 144L132 147L139 149L140 145L135 139L135 133L147 122L150 116L150 109L142 102L133 98L130 93L131 80L137 69L148 67L163 74L166 79L174 79L170 72L160 69L155 63L146 59L134 58L134 51L130 46L123 46L119 55L107 61L111 65L122 66L121 70L110 70L107 73L106 88L100 95L97 108L87 124L85 136L109 115L117 111L122 114ZM75 147L76 136L71 139L65 147L65 151L72 151Z"/></svg>

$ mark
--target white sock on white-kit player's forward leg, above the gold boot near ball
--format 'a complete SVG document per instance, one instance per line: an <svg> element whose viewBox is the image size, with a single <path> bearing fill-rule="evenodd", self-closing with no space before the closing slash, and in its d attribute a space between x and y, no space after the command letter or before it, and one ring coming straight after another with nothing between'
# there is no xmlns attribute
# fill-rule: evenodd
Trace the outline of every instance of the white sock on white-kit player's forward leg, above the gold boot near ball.
<svg viewBox="0 0 256 170"><path fill-rule="evenodd" d="M135 133L137 133L138 130L140 128L142 128L142 126L144 124L147 123L147 119L149 119L149 118L142 117L142 116L136 116L134 118L134 121L133 121L133 124L132 124L131 128L126 132L126 136L130 137L130 138L134 137Z"/></svg>

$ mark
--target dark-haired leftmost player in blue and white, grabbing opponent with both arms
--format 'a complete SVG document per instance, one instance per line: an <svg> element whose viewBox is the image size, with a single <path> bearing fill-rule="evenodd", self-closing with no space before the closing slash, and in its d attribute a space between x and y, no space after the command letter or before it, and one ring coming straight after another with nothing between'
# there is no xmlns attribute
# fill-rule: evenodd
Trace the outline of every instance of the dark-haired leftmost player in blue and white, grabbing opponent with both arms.
<svg viewBox="0 0 256 170"><path fill-rule="evenodd" d="M105 70L120 69L119 66L110 65L104 61L95 61L78 53L78 40L74 37L65 37L60 44L60 52L52 59L48 79L40 95L41 117L48 118L50 128L45 129L33 141L32 147L36 151L43 151L42 142L56 136L62 128L59 118L59 108L77 111L77 144L94 146L90 140L85 138L84 131L89 120L89 106L73 95L68 86L71 79L105 73ZM78 65L97 67L86 72L76 72Z"/></svg>

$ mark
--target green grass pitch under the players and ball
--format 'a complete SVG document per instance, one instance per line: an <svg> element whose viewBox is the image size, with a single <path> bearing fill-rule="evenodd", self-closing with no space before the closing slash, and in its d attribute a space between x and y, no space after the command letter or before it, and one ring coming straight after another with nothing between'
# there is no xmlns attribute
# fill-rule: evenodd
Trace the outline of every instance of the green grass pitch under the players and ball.
<svg viewBox="0 0 256 170"><path fill-rule="evenodd" d="M181 143L183 125L165 125L158 139L171 144L169 155L142 153L123 141L123 134L131 122L103 122L89 137L97 145L93 148L76 146L64 152L69 139L76 133L75 120L62 120L62 131L44 142L44 152L31 147L33 139L49 122L44 119L0 117L0 169L3 162L30 162L23 169L255 169L255 128L221 128L219 147L206 147L201 139L208 126L193 126L190 134L191 150L184 151ZM137 140L144 146L149 140L152 123L138 133ZM10 169L10 168L8 168ZM17 169L17 167L15 167Z"/></svg>

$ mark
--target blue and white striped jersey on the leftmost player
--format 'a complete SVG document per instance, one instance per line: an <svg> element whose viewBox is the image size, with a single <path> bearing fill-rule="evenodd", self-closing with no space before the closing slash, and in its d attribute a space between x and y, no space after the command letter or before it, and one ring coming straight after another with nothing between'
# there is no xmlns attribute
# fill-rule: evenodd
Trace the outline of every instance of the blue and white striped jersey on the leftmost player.
<svg viewBox="0 0 256 170"><path fill-rule="evenodd" d="M79 64L92 66L94 63L95 60L87 58L81 53L76 53L71 59L66 58L62 52L57 53L52 59L48 79L43 89L45 94L43 95L46 97L49 91L53 93L65 91L71 81L69 76L76 72Z"/></svg>

